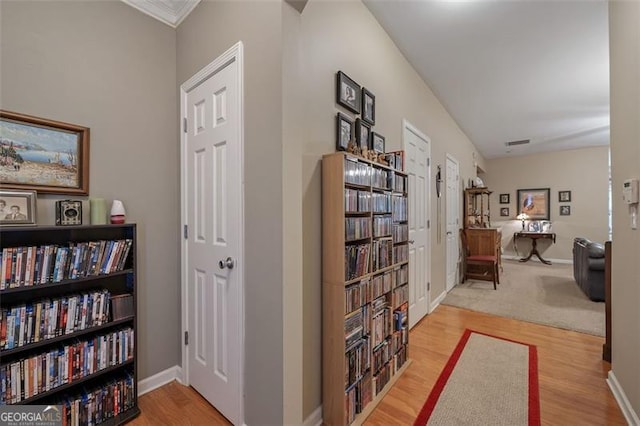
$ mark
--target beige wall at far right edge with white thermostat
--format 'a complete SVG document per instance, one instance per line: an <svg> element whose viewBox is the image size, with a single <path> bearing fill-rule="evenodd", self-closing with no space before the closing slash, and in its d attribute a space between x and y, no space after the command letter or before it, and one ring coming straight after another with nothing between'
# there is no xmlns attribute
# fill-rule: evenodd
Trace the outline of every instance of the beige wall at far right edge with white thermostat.
<svg viewBox="0 0 640 426"><path fill-rule="evenodd" d="M622 182L640 178L640 3L609 2L613 174L612 369L640 414L640 230L631 230ZM636 417L637 419L637 417Z"/></svg>

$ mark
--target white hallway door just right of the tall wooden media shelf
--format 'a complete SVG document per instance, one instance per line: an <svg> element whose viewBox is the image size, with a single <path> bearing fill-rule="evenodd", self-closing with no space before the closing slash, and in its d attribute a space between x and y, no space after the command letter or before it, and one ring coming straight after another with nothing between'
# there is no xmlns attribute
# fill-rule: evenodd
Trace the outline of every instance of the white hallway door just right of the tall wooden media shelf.
<svg viewBox="0 0 640 426"><path fill-rule="evenodd" d="M429 313L430 303L430 144L406 121L402 139L409 175L409 327L413 327Z"/></svg>

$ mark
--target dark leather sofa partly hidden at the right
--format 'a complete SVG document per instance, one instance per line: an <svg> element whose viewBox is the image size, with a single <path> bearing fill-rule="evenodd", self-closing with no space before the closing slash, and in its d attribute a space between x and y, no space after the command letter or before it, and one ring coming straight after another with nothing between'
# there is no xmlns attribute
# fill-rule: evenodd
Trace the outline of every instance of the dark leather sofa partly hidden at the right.
<svg viewBox="0 0 640 426"><path fill-rule="evenodd" d="M604 302L604 245L586 238L573 240L573 278L587 297Z"/></svg>

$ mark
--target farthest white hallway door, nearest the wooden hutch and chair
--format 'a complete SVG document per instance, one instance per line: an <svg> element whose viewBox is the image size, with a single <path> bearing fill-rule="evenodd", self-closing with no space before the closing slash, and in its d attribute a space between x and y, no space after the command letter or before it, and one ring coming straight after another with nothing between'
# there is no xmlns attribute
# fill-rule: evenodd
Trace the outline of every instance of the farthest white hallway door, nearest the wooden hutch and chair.
<svg viewBox="0 0 640 426"><path fill-rule="evenodd" d="M447 221L447 284L446 290L451 291L458 284L458 263L460 248L458 246L458 228L460 217L460 166L458 161L447 154L445 167L446 212Z"/></svg>

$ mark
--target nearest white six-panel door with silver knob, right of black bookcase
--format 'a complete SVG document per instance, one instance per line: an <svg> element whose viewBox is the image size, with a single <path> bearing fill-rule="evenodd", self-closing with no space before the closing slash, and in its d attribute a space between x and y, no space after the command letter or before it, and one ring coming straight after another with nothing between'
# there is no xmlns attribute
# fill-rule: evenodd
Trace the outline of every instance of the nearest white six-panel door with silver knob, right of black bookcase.
<svg viewBox="0 0 640 426"><path fill-rule="evenodd" d="M182 99L187 382L234 424L244 358L238 67L221 64Z"/></svg>

